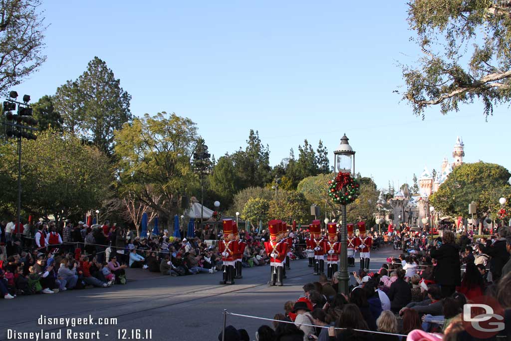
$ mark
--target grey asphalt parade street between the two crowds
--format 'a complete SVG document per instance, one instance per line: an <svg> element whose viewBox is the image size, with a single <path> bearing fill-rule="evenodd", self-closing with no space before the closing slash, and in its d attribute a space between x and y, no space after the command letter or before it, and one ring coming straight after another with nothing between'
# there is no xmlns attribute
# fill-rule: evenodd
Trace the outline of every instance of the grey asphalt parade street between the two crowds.
<svg viewBox="0 0 511 341"><path fill-rule="evenodd" d="M370 268L378 269L390 255L397 255L387 246L371 252ZM355 268L358 268L358 260ZM199 274L169 277L133 269L126 285L111 288L68 290L56 294L38 294L1 300L0 341L14 339L8 330L22 332L61 332L57 339L150 339L152 340L217 340L222 329L223 309L229 312L272 318L284 312L284 303L303 294L301 287L317 280L307 260L291 262L291 270L282 287L268 286L269 266L244 268L243 279L235 285L219 285L222 274ZM135 279L133 279L135 278ZM57 325L43 325L45 317L61 317ZM92 318L92 325L84 324ZM82 318L84 321L76 319ZM116 321L99 319L113 318ZM75 320L65 320L75 319ZM66 323L75 322L75 326ZM78 323L80 322L80 324ZM105 325L109 323L109 325ZM255 331L269 321L227 315L227 325ZM88 333L88 334L69 334ZM139 335L140 333L140 335ZM11 338L8 338L11 336ZM23 335L20 335L23 336ZM32 338L17 339L36 339ZM41 339L39 337L39 339ZM53 337L51 338L53 339Z"/></svg>

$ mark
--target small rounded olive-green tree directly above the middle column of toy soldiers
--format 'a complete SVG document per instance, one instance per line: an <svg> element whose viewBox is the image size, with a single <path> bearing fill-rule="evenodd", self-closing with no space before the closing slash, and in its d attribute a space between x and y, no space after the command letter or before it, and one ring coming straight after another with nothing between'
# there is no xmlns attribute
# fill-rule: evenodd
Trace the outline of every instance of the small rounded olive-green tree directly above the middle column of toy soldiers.
<svg viewBox="0 0 511 341"><path fill-rule="evenodd" d="M281 219L291 223L293 219L300 223L310 220L309 201L305 195L296 191L279 191L276 200L269 202L268 215L272 219Z"/></svg>

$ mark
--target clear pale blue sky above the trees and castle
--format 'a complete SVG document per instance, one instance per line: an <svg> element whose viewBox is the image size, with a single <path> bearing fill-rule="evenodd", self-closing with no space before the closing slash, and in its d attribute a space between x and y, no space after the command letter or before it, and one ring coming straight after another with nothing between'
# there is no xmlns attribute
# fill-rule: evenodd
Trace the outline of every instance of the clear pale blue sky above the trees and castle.
<svg viewBox="0 0 511 341"><path fill-rule="evenodd" d="M392 93L403 89L398 64L419 56L405 1L42 1L48 60L16 87L33 101L98 56L134 115L191 118L217 158L254 129L272 165L304 139L321 139L333 164L345 132L356 170L397 187L452 162L461 135L467 162L511 169L507 106L488 122L480 104L448 116L433 107L422 121Z"/></svg>

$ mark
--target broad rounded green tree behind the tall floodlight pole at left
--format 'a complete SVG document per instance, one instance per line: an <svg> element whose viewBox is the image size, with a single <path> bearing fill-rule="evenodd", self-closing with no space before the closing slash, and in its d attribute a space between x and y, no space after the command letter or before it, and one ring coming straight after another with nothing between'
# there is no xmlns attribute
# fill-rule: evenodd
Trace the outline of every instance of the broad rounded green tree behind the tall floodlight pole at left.
<svg viewBox="0 0 511 341"><path fill-rule="evenodd" d="M11 180L3 199L15 202L16 143L4 144L0 150L1 172ZM22 210L46 219L52 214L56 220L81 217L101 207L111 184L103 153L51 128L39 132L36 141L24 141L21 167Z"/></svg>

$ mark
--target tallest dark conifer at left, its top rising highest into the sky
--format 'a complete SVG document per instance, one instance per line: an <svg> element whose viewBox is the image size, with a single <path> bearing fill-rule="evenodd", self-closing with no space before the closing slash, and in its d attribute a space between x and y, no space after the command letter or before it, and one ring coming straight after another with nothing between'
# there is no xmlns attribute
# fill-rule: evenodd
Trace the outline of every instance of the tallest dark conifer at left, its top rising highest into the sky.
<svg viewBox="0 0 511 341"><path fill-rule="evenodd" d="M84 130L100 150L109 154L114 130L131 121L131 96L120 86L112 70L98 57L89 61L87 70L78 78L83 98Z"/></svg>

